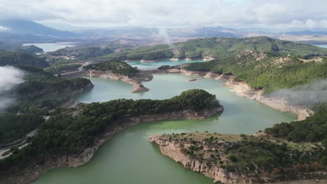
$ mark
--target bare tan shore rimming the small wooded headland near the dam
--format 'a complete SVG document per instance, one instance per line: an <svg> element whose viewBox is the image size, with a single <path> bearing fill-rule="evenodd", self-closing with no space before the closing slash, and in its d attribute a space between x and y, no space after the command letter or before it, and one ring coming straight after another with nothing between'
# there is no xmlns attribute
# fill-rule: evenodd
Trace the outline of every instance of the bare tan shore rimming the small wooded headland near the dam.
<svg viewBox="0 0 327 184"><path fill-rule="evenodd" d="M129 77L126 75L118 75L109 71L101 71L101 70L92 70L92 72L87 71L88 75L91 77L101 77L101 78L109 78L114 80L121 80L122 82L126 82L128 84L133 85L133 89L131 93L140 93L149 91L145 86L143 86L142 82L150 81L152 79L152 74L150 72L138 72L133 77Z"/></svg>

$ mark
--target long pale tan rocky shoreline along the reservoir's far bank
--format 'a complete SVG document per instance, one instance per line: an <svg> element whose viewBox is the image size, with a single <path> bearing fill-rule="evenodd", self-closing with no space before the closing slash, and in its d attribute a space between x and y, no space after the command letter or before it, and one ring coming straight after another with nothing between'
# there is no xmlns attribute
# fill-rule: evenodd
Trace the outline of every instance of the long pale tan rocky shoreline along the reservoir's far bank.
<svg viewBox="0 0 327 184"><path fill-rule="evenodd" d="M89 74L89 72L87 73ZM291 112L293 114L297 114L298 121L303 120L313 114L312 110L308 109L307 107L290 105L284 99L270 98L263 94L263 90L254 90L246 82L235 81L234 75L220 75L213 72L189 71L178 68L171 68L168 70L141 71L139 74L131 78L124 75L116 75L111 72L93 70L92 77L122 80L123 82L133 85L133 90L131 91L132 93L139 93L150 90L143 86L142 82L150 81L153 77L152 73L180 73L187 76L199 76L216 80L226 80L224 86L232 88L231 91L233 91L236 95L249 98L251 100L257 100L281 112Z"/></svg>

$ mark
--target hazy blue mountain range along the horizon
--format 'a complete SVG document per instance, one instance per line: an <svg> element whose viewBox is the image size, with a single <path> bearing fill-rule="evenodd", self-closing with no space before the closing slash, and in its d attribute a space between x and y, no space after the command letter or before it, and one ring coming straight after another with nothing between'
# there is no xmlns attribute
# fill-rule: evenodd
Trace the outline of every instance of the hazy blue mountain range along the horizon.
<svg viewBox="0 0 327 184"><path fill-rule="evenodd" d="M51 42L60 40L95 40L101 38L203 38L270 36L279 38L284 31L249 28L231 29L222 26L193 26L187 28L113 27L107 29L79 29L62 31L29 20L0 20L0 40L8 43ZM327 36L327 31L290 31L290 36ZM282 39L282 38L281 38Z"/></svg>

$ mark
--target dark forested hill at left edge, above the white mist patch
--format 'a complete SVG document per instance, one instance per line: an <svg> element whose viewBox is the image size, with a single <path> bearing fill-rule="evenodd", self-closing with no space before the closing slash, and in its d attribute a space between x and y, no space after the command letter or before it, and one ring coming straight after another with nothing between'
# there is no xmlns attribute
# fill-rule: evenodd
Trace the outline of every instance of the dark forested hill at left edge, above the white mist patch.
<svg viewBox="0 0 327 184"><path fill-rule="evenodd" d="M6 65L47 67L49 63L31 54L0 50L0 66Z"/></svg>

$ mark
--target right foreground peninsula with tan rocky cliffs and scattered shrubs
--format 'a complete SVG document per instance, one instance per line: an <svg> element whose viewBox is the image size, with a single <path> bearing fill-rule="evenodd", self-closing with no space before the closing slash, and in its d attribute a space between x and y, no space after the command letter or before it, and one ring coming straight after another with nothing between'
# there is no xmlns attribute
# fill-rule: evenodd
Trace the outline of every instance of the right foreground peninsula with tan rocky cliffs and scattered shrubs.
<svg viewBox="0 0 327 184"><path fill-rule="evenodd" d="M221 135L211 132L190 132L153 135L163 155L184 167L221 183L275 183L299 179L324 179L324 165L280 163L294 153L313 155L310 144L294 144L264 135ZM269 148L269 149L268 149ZM268 149L268 150L267 150ZM282 154L279 151L283 151Z"/></svg>

